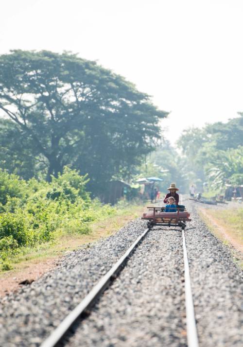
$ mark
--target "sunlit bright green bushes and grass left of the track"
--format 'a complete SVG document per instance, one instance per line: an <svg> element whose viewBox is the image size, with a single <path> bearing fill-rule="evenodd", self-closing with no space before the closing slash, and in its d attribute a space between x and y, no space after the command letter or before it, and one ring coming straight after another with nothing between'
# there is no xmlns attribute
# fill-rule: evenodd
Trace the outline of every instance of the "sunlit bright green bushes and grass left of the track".
<svg viewBox="0 0 243 347"><path fill-rule="evenodd" d="M62 252L64 240L64 249L75 248L74 241L93 241L121 227L118 219L128 212L126 204L111 207L91 199L85 187L87 180L69 168L57 178L52 176L51 182L25 181L0 171L2 271L12 269L15 262L45 255L48 249ZM135 218L136 208L129 208Z"/></svg>

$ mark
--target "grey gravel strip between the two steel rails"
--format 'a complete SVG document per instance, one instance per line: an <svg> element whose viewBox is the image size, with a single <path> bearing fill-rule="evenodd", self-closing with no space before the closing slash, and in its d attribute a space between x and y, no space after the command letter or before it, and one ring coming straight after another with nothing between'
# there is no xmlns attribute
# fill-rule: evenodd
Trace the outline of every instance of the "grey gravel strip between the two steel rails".
<svg viewBox="0 0 243 347"><path fill-rule="evenodd" d="M151 230L65 346L187 346L183 266L181 235Z"/></svg>

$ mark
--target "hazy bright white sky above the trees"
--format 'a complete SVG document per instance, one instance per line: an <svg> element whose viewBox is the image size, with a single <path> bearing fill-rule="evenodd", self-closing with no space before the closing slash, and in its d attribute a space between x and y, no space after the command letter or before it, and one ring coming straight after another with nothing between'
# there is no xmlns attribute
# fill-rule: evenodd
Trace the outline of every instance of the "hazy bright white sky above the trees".
<svg viewBox="0 0 243 347"><path fill-rule="evenodd" d="M243 111L243 0L8 0L0 54L72 51L123 75L189 126Z"/></svg>

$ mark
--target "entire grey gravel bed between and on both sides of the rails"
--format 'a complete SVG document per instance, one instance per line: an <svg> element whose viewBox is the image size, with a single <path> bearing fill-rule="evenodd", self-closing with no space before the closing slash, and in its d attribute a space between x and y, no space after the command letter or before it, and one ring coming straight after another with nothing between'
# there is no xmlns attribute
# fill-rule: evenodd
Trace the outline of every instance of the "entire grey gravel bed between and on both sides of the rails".
<svg viewBox="0 0 243 347"><path fill-rule="evenodd" d="M240 347L242 271L199 219L195 204L185 203L192 217L185 237L199 345ZM0 346L39 346L145 228L135 220L4 297ZM183 276L179 229L151 230L68 346L186 346Z"/></svg>

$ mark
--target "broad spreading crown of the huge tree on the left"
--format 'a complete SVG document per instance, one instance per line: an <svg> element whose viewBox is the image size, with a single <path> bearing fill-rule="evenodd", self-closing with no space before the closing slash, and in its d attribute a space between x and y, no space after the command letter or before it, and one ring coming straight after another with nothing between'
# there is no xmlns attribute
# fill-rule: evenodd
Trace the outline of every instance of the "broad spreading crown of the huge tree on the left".
<svg viewBox="0 0 243 347"><path fill-rule="evenodd" d="M0 56L0 110L25 139L20 152L46 164L47 179L70 164L99 184L151 151L166 117L112 71L47 51Z"/></svg>

